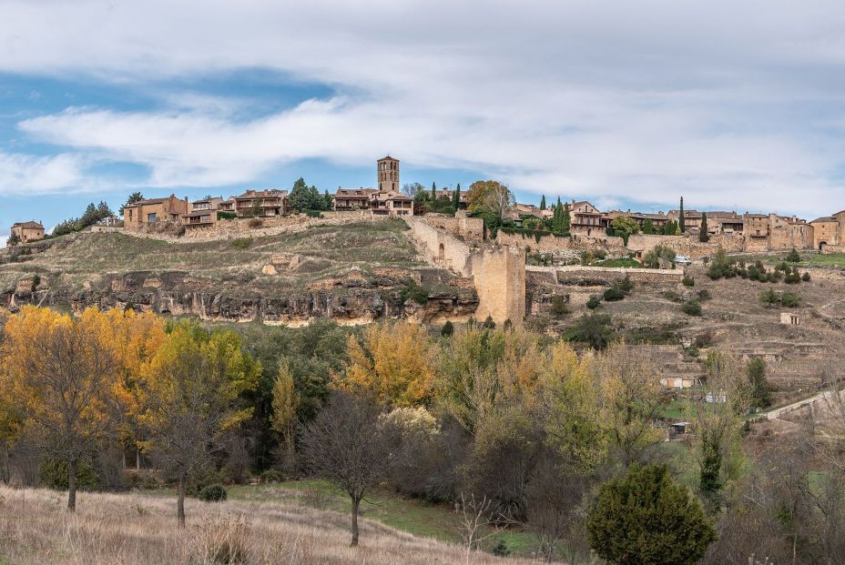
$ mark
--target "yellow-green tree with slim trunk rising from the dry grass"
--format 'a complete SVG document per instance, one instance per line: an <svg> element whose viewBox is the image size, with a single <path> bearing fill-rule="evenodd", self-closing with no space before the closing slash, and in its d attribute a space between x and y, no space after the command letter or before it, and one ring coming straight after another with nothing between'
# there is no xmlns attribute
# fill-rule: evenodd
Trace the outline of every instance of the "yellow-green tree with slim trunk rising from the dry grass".
<svg viewBox="0 0 845 565"><path fill-rule="evenodd" d="M185 527L188 478L249 419L241 395L254 390L261 371L231 330L208 331L183 321L142 370L138 404L147 433L143 445L178 480L177 515Z"/></svg>

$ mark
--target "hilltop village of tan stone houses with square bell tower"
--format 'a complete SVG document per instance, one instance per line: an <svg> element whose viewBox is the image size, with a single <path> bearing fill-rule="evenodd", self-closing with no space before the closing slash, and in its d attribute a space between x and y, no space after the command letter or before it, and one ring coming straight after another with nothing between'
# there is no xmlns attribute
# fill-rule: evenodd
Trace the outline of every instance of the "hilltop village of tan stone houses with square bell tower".
<svg viewBox="0 0 845 565"><path fill-rule="evenodd" d="M205 197L190 202L187 197L176 195L161 198L130 197L120 210L121 217L107 215L97 220L97 225L124 227L131 230L196 231L213 228L221 221L234 218L260 220L287 217L294 213L316 215L320 211L366 212L372 216L420 216L432 211L425 203L434 205L433 211L463 216L473 200L474 183L468 190L460 185L455 189L431 190L420 185L400 184L399 160L385 156L377 161L377 187L342 188L332 195L320 194L315 187L304 182L293 190L247 190L229 198ZM301 181L301 179L300 179ZM298 182L300 182L298 181ZM438 206L439 205L439 206ZM738 213L736 211L684 209L667 212L642 213L631 210L602 211L585 200L571 200L546 206L545 197L540 206L510 202L503 208L501 224L505 233L551 234L548 225L555 219L555 211L568 216L565 231L556 235L579 238L584 245L596 247L615 246L612 237L625 239L624 246L635 257L641 257L648 243L641 237L675 236L690 237L692 242L708 243L708 247L724 247L729 252L766 252L796 249L815 249L838 253L845 250L845 211L811 221L777 214ZM470 216L473 216L470 210ZM539 221L538 221L539 220ZM34 220L15 223L11 227L9 243L28 243L46 236L45 227ZM611 237L611 239L608 239ZM672 245L677 245L677 242ZM543 246L540 246L543 247ZM688 250L688 249L687 249Z"/></svg>

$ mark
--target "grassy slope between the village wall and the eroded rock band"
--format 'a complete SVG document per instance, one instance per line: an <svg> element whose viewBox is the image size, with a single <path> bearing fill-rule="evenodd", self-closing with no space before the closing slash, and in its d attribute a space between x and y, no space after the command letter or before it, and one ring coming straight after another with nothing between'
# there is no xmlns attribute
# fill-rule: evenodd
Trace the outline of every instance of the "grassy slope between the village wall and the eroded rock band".
<svg viewBox="0 0 845 565"><path fill-rule="evenodd" d="M0 266L0 289L13 288L23 277L48 277L53 287L80 288L101 273L138 270L187 271L210 281L257 277L272 257L300 255L300 265L279 268L267 277L273 288L303 288L352 269L366 276L373 267L419 266L407 226L386 219L347 226L314 227L299 233L255 237L248 248L232 241L168 243L123 234L85 233L62 237L31 261Z"/></svg>

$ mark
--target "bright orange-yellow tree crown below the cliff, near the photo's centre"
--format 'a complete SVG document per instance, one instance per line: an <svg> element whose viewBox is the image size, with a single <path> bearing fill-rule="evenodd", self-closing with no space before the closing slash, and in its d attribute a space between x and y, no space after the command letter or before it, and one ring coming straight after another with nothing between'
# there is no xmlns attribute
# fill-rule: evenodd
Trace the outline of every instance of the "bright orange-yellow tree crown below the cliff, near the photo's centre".
<svg viewBox="0 0 845 565"><path fill-rule="evenodd" d="M391 407L425 404L433 386L433 342L422 325L372 324L347 342L349 364L337 388L372 395Z"/></svg>

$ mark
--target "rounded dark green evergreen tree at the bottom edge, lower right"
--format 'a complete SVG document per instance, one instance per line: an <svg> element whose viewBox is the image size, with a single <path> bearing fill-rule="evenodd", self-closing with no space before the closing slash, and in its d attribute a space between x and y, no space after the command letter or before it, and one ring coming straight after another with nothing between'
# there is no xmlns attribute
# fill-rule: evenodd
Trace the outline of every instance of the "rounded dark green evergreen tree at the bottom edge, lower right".
<svg viewBox="0 0 845 565"><path fill-rule="evenodd" d="M697 499L663 466L635 466L602 485L586 527L598 556L618 565L691 565L716 540Z"/></svg>

